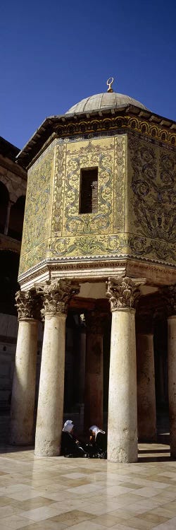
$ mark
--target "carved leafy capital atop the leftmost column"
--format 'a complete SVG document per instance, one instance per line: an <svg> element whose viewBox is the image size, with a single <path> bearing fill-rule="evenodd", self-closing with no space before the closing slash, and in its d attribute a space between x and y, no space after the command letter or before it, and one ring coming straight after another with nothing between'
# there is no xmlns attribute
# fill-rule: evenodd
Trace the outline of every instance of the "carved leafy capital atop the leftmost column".
<svg viewBox="0 0 176 530"><path fill-rule="evenodd" d="M15 295L18 310L18 320L39 319L40 300L34 288L23 291L18 290Z"/></svg>

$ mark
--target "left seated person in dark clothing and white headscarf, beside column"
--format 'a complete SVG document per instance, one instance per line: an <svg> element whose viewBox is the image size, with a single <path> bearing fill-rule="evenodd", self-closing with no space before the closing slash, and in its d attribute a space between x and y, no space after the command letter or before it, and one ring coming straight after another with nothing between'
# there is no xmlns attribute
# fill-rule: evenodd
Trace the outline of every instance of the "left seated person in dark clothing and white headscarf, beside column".
<svg viewBox="0 0 176 530"><path fill-rule="evenodd" d="M61 437L61 454L63 454L64 457L86 457L87 454L79 440L74 436L73 430L73 421L65 421Z"/></svg>

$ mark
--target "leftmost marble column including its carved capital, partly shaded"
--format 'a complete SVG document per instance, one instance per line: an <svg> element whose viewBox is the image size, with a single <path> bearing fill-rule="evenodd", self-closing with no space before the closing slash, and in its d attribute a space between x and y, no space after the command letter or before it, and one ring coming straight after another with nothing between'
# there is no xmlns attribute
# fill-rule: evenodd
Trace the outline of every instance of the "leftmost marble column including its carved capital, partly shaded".
<svg viewBox="0 0 176 530"><path fill-rule="evenodd" d="M11 397L11 444L32 444L37 367L38 320L36 293L18 291L18 341Z"/></svg>

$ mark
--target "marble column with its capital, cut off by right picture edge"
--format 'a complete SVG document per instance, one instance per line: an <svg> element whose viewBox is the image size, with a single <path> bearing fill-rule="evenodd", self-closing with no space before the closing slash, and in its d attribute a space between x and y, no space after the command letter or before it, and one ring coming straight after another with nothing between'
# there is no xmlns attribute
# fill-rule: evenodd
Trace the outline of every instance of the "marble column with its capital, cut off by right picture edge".
<svg viewBox="0 0 176 530"><path fill-rule="evenodd" d="M163 289L168 310L168 396L170 457L176 458L176 284Z"/></svg>

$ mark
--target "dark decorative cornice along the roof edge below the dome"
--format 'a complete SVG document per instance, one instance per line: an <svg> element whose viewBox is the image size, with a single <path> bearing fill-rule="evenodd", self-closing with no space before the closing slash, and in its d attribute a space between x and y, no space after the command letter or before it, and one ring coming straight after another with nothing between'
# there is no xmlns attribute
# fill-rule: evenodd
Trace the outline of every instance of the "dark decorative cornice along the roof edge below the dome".
<svg viewBox="0 0 176 530"><path fill-rule="evenodd" d="M125 129L139 132L151 140L176 145L176 124L170 119L141 110L138 107L124 107L117 110L101 110L91 114L75 114L46 118L32 139L20 151L18 163L27 168L56 138L72 139L75 135L94 135L114 131L120 134Z"/></svg>

